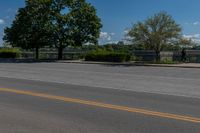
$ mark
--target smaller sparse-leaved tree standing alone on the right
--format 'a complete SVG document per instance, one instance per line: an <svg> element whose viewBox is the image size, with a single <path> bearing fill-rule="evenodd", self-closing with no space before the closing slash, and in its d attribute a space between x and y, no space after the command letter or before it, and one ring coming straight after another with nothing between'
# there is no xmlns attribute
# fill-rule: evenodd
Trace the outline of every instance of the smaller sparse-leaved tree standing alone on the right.
<svg viewBox="0 0 200 133"><path fill-rule="evenodd" d="M181 27L166 12L160 12L144 22L133 25L128 32L134 44L144 44L147 49L154 50L156 60L160 60L160 52L165 44L173 43L180 37Z"/></svg>

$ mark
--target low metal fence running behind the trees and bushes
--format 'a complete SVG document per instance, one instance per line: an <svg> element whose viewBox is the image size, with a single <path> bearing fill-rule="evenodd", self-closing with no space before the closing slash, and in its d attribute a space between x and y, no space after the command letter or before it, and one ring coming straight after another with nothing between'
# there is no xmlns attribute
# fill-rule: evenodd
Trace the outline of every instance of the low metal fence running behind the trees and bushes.
<svg viewBox="0 0 200 133"><path fill-rule="evenodd" d="M67 50L63 52L63 59L65 60L77 60L83 59L88 51L84 50ZM154 51L136 50L132 51L135 60L137 61L155 61L156 54ZM51 50L40 50L40 59L57 59L58 52L56 49ZM35 58L34 51L23 51L21 53L22 59L33 59ZM160 53L161 61L181 61L181 51L163 51ZM186 62L200 63L200 50L187 50L186 51Z"/></svg>

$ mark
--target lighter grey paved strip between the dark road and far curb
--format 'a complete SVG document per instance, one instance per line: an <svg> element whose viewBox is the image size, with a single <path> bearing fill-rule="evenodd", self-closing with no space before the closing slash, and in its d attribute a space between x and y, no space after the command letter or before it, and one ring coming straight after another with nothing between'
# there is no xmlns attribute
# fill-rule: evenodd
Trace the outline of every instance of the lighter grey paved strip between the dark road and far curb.
<svg viewBox="0 0 200 133"><path fill-rule="evenodd" d="M200 97L200 69L66 63L1 63L0 77Z"/></svg>

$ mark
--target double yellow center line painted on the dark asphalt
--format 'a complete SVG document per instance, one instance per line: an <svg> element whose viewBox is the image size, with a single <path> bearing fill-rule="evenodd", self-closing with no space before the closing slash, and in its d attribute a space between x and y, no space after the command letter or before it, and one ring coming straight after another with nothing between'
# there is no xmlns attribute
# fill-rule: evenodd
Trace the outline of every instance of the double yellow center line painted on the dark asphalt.
<svg viewBox="0 0 200 133"><path fill-rule="evenodd" d="M94 101L81 100L81 99L75 99L75 98L68 98L68 97L63 97L63 96L55 96L55 95L49 95L49 94L31 92L31 91L24 91L24 90L0 88L0 91L21 94L21 95L29 95L29 96L34 96L34 97L47 98L47 99L52 99L52 100L60 100L60 101L64 101L64 102L84 104L84 105L89 105L89 106L96 106L96 107L113 109L113 110L127 111L127 112L132 112L132 113L148 115L148 116L156 116L156 117L161 117L161 118L168 118L168 119L174 119L174 120L180 120L180 121L200 123L200 118L198 118L198 117L150 111L150 110L145 110L145 109L119 106L119 105L113 105L113 104L106 104L106 103L101 103L101 102L94 102Z"/></svg>

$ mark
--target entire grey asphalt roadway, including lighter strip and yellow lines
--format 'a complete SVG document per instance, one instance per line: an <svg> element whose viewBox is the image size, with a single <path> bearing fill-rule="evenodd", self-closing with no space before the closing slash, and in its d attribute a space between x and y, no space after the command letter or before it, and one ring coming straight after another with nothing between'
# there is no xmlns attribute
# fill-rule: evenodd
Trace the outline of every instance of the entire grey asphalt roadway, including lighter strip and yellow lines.
<svg viewBox="0 0 200 133"><path fill-rule="evenodd" d="M0 132L199 133L199 74L182 68L0 64Z"/></svg>

